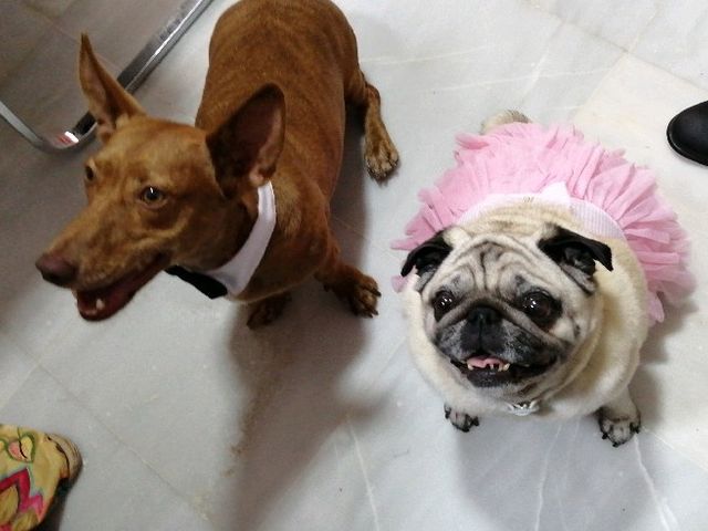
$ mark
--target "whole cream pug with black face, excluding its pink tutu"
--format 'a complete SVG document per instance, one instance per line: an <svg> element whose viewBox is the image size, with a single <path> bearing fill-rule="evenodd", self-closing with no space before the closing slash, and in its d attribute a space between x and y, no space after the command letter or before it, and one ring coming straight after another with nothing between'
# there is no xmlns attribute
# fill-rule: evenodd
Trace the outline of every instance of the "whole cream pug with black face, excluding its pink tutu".
<svg viewBox="0 0 708 531"><path fill-rule="evenodd" d="M413 358L455 427L595 413L615 447L639 431L627 386L649 326L647 284L623 238L531 197L439 231L402 274Z"/></svg>

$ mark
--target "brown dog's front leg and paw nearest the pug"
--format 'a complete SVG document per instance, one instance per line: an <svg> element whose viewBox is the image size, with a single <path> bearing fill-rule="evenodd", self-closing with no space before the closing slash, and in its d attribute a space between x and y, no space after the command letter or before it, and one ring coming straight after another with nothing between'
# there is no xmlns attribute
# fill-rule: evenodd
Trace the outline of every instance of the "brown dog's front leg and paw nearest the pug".
<svg viewBox="0 0 708 531"><path fill-rule="evenodd" d="M347 303L355 315L378 315L378 284L358 269L340 260L340 247L333 237L330 237L327 256L314 273L314 278L322 282L325 290L332 290L337 298Z"/></svg>

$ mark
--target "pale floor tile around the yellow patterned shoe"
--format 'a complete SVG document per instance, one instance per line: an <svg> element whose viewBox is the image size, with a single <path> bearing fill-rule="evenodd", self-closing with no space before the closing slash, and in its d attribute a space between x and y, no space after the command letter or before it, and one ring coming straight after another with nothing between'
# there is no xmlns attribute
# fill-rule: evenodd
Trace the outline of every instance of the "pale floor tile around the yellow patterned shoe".
<svg viewBox="0 0 708 531"><path fill-rule="evenodd" d="M60 512L62 529L212 529L186 501L188 492L177 493L125 446L127 434L107 430L42 368L0 416L6 424L66 435L80 447L84 467Z"/></svg>

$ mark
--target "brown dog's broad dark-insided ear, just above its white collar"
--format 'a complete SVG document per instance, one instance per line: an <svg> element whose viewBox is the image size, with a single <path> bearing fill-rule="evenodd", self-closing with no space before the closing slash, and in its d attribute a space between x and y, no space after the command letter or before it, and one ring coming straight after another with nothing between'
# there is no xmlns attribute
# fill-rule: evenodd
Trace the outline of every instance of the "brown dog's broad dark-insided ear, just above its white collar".
<svg viewBox="0 0 708 531"><path fill-rule="evenodd" d="M233 196L243 178L253 187L264 184L275 171L284 138L285 96L278 86L266 85L207 136L226 196Z"/></svg>

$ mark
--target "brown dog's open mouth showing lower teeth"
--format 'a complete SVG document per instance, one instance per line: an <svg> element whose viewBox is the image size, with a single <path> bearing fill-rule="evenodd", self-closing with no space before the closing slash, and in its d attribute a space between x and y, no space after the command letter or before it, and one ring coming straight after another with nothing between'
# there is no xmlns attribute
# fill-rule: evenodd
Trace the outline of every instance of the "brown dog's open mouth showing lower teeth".
<svg viewBox="0 0 708 531"><path fill-rule="evenodd" d="M114 315L131 302L133 295L140 288L167 266L167 257L159 254L146 268L128 273L108 285L94 290L75 291L80 315L86 321L101 321Z"/></svg>

